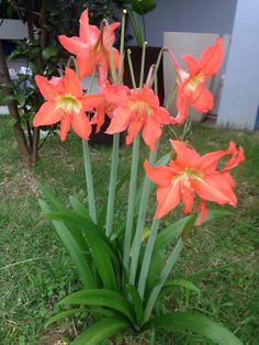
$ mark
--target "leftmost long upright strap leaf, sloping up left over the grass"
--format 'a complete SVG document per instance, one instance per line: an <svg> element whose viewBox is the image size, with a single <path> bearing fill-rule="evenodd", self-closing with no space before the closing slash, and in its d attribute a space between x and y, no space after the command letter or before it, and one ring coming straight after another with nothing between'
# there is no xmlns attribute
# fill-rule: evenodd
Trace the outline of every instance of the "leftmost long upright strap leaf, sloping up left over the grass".
<svg viewBox="0 0 259 345"><path fill-rule="evenodd" d="M48 204L43 200L38 200L38 203L41 205L43 213L47 215L50 212ZM74 236L71 235L70 231L61 222L53 221L52 223L54 225L54 229L56 230L56 233L60 237L64 246L68 251L74 264L76 265L78 275L82 280L85 287L94 288L95 281L89 267L89 263L86 259L80 247L78 246L77 242L75 241Z"/></svg>

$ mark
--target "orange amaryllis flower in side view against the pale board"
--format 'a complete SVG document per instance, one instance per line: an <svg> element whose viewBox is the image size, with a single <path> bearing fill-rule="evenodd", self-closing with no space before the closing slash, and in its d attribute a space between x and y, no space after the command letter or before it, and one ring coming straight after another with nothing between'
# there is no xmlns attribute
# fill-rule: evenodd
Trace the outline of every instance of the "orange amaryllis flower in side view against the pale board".
<svg viewBox="0 0 259 345"><path fill-rule="evenodd" d="M216 43L207 47L200 59L183 55L189 71L185 71L176 60L173 54L169 57L177 71L178 96L176 123L183 123L188 116L188 107L191 105L199 112L207 112L214 107L212 93L205 86L205 81L216 74L223 62L223 41L217 37Z"/></svg>

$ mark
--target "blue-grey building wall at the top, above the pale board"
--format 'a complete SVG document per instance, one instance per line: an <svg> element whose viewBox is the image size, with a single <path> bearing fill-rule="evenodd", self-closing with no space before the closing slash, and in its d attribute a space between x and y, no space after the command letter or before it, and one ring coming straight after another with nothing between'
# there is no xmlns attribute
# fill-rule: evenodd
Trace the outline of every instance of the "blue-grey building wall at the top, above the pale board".
<svg viewBox="0 0 259 345"><path fill-rule="evenodd" d="M148 44L162 46L165 31L230 34L236 2L237 0L157 0L157 8L145 16ZM128 33L133 34L131 25Z"/></svg>

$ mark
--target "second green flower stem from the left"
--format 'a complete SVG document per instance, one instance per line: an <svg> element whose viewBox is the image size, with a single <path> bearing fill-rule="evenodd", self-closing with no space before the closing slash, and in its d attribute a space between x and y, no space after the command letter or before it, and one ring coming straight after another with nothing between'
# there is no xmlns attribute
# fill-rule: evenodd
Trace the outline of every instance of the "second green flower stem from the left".
<svg viewBox="0 0 259 345"><path fill-rule="evenodd" d="M111 165L109 194L108 194L108 212L106 212L106 229L105 229L106 236L110 236L113 230L115 189L116 189L117 166L119 166L119 148L120 148L120 133L116 133L116 134L113 134L112 165Z"/></svg>

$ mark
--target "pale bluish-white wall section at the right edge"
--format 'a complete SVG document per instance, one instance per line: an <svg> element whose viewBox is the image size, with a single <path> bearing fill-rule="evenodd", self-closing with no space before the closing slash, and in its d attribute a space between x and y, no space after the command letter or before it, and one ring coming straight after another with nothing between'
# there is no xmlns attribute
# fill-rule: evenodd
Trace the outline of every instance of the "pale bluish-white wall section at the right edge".
<svg viewBox="0 0 259 345"><path fill-rule="evenodd" d="M259 0L238 0L218 124L255 129L259 104Z"/></svg>

